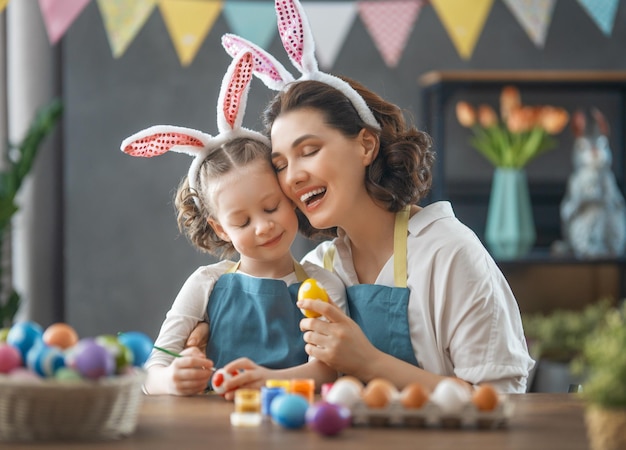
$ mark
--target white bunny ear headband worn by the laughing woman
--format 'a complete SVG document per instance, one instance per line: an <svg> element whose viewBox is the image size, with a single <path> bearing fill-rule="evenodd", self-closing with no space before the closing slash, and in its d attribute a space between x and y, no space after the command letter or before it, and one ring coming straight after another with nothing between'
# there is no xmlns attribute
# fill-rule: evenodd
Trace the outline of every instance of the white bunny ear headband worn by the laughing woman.
<svg viewBox="0 0 626 450"><path fill-rule="evenodd" d="M316 80L341 91L352 103L359 117L369 126L380 130L380 124L359 93L341 78L321 72L315 59L315 42L308 19L298 0L275 0L278 34L292 64L302 76L293 76L272 55L252 42L234 34L222 36L226 52L235 57L242 50L250 51L255 58L254 73L270 89L283 91L292 81Z"/></svg>

